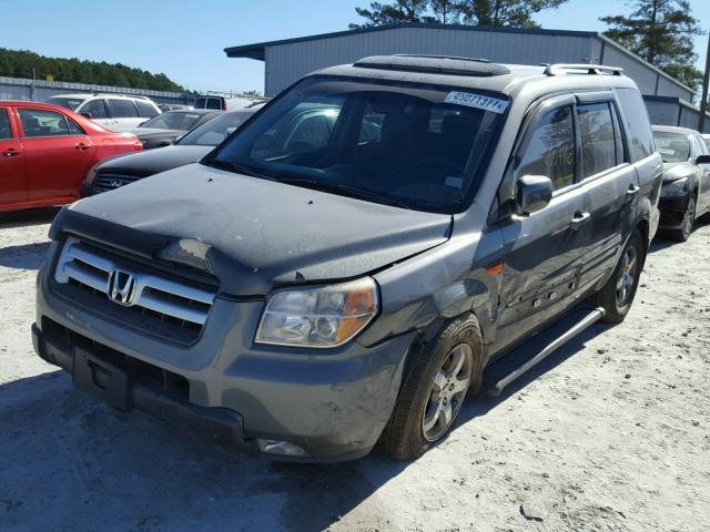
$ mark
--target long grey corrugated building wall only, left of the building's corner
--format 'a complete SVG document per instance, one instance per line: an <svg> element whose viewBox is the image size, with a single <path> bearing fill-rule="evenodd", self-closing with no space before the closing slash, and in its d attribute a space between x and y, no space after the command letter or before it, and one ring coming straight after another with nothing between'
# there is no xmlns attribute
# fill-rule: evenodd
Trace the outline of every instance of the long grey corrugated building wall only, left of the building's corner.
<svg viewBox="0 0 710 532"><path fill-rule="evenodd" d="M398 28L266 48L267 96L303 75L366 55L430 53L499 63L589 62L594 38L493 31Z"/></svg>

